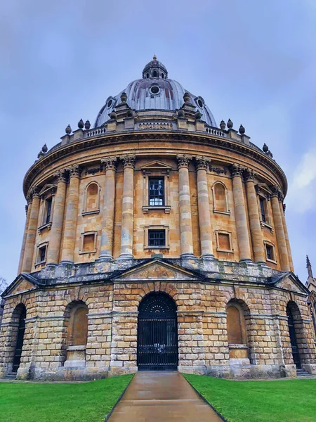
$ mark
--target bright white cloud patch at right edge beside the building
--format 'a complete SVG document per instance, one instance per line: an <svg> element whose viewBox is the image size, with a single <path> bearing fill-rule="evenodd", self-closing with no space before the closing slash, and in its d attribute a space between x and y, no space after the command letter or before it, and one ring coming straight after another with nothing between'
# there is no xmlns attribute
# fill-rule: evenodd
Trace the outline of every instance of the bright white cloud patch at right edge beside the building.
<svg viewBox="0 0 316 422"><path fill-rule="evenodd" d="M315 210L316 197L316 147L310 148L298 162L291 183L289 184L289 195L287 204L292 210L303 213L308 210Z"/></svg>

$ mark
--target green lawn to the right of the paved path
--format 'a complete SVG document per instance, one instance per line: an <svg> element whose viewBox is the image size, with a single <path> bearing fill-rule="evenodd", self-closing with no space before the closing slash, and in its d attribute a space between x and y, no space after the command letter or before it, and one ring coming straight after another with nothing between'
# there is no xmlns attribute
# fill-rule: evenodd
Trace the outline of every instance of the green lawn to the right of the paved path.
<svg viewBox="0 0 316 422"><path fill-rule="evenodd" d="M316 380L228 381L185 375L228 422L315 422Z"/></svg>

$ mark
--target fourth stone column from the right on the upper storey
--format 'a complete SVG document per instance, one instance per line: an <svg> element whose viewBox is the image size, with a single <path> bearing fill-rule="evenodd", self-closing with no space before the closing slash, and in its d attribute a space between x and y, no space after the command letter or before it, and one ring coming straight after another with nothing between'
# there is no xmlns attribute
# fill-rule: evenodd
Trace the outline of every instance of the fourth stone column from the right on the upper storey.
<svg viewBox="0 0 316 422"><path fill-rule="evenodd" d="M232 195L234 197L235 220L240 262L251 262L249 231L242 188L242 172L240 165L234 164L230 168L232 174Z"/></svg>

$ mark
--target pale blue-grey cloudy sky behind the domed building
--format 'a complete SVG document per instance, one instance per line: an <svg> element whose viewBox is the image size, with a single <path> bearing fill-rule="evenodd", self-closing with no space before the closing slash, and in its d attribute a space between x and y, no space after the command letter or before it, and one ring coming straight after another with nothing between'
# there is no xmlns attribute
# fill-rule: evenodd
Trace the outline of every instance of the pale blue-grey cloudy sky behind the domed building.
<svg viewBox="0 0 316 422"><path fill-rule="evenodd" d="M316 1L3 1L0 11L0 276L16 276L22 179L154 53L216 121L243 124L287 174L295 272L316 275Z"/></svg>

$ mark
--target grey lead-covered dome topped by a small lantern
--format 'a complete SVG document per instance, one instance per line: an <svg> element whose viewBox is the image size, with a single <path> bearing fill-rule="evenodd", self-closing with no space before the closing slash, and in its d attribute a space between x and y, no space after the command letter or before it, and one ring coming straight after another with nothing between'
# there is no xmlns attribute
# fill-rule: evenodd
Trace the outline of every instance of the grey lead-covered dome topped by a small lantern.
<svg viewBox="0 0 316 422"><path fill-rule="evenodd" d="M183 88L179 82L168 78L166 67L160 63L156 56L145 65L143 78L130 82L129 85L117 96L107 98L96 118L94 127L100 127L110 120L110 113L120 103L121 94L127 95L127 104L136 111L162 110L176 111L183 106L183 96L190 95L190 103L202 114L201 120L209 126L217 127L213 114L206 106L202 96L195 96Z"/></svg>

